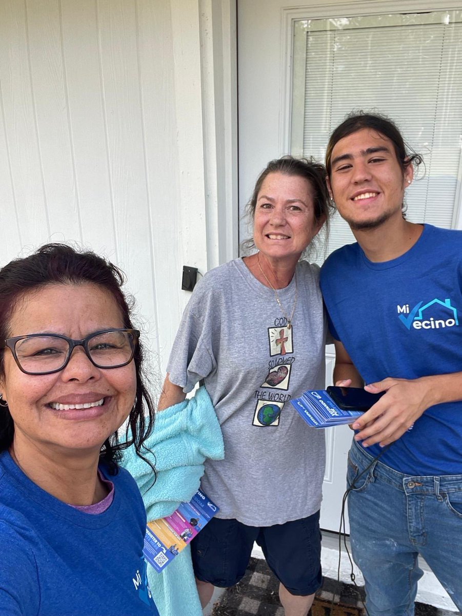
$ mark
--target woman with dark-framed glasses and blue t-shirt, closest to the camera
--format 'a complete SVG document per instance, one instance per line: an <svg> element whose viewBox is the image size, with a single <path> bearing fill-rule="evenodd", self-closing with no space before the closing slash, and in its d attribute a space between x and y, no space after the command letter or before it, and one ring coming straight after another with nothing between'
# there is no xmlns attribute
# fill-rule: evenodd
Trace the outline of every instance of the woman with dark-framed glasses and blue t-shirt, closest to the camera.
<svg viewBox="0 0 462 616"><path fill-rule="evenodd" d="M0 270L0 614L158 615L117 466L117 429L139 454L154 419L122 282L65 245Z"/></svg>

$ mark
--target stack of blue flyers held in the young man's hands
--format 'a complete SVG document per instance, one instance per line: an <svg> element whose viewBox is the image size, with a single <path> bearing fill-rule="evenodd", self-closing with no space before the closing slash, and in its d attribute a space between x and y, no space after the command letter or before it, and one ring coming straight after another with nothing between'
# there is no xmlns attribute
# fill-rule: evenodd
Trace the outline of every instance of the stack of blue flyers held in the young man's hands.
<svg viewBox="0 0 462 616"><path fill-rule="evenodd" d="M313 428L330 428L353 423L362 411L346 411L337 406L325 389L308 390L290 400L295 409Z"/></svg>

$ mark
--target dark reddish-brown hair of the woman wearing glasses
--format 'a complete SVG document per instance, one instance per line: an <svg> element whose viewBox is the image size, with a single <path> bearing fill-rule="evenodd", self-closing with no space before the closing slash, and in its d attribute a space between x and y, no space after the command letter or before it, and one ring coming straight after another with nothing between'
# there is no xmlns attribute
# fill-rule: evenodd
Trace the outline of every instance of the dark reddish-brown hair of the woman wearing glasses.
<svg viewBox="0 0 462 616"><path fill-rule="evenodd" d="M12 312L18 301L26 293L44 288L47 285L81 285L92 283L108 291L116 301L122 315L124 328L132 328L130 315L133 311L133 298L125 296L122 285L123 272L91 251L79 251L65 244L46 244L24 259L14 259L0 270L0 340L8 338L8 326ZM0 375L4 376L4 350L0 352ZM143 460L141 446L151 434L154 426L154 404L146 388L146 375L143 370L144 349L138 341L133 361L137 376L135 404L130 411L127 423L127 439L119 442L117 432L111 434L102 445L100 460L108 464L113 474L117 472L117 462L121 460L122 450L130 445ZM2 401L0 407L0 452L8 449L13 442L14 421L9 408ZM148 460L146 460L150 466Z"/></svg>

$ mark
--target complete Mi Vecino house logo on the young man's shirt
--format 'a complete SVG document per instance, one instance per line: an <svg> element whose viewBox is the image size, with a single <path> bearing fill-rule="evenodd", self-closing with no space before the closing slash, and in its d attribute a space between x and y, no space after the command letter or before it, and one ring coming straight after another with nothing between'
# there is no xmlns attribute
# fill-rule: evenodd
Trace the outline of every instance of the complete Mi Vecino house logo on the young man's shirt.
<svg viewBox="0 0 462 616"><path fill-rule="evenodd" d="M422 304L423 302L419 302L412 310L409 308L409 304L397 306L399 320L408 330L411 327L414 330L439 330L459 325L457 309L451 306L450 299L442 301L435 298L425 306L422 306Z"/></svg>

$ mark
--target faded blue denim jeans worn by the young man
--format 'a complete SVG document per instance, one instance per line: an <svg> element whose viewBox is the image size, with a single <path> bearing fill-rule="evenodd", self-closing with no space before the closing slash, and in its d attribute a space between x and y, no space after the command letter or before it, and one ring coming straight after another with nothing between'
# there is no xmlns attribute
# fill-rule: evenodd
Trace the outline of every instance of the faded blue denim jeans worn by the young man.
<svg viewBox="0 0 462 616"><path fill-rule="evenodd" d="M393 446L393 445L391 445ZM351 551L370 616L413 616L421 554L462 609L462 475L410 477L373 462L353 442L348 455ZM357 479L356 479L357 477Z"/></svg>

